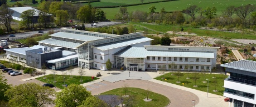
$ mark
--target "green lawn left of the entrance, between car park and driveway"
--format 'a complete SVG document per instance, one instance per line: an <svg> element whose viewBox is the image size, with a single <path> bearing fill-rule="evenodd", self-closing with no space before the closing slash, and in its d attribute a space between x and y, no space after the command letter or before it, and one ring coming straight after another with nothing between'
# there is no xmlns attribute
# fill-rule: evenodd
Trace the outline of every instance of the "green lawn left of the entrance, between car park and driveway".
<svg viewBox="0 0 256 107"><path fill-rule="evenodd" d="M49 84L56 84L55 86L60 89L64 89L62 86L64 84L64 77L65 77L65 84L70 85L70 84L83 84L83 83L88 83L89 81L93 81L99 78L94 77L94 79L91 79L91 77L85 77L82 76L82 82L80 82L80 76L72 76L73 78L70 78L70 75L55 75L55 81L54 83L54 75L46 75L46 79L44 77L36 78L37 80L43 81L44 83L49 83Z"/></svg>

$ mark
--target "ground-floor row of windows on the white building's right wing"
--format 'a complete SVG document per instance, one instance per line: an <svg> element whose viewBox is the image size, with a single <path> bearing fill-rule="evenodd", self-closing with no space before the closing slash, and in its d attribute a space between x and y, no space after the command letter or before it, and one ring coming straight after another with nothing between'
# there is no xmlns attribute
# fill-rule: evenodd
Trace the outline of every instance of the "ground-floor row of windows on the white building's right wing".
<svg viewBox="0 0 256 107"><path fill-rule="evenodd" d="M195 67L196 67L195 69L199 69L199 66L195 66ZM150 64L148 64L147 68L151 68ZM166 65L158 65L158 68L166 68ZM194 66L168 65L168 68L173 68L173 69L177 69L177 68L179 68L179 69L188 69L188 68L190 68L190 69L194 69ZM205 67L201 66L201 69L205 69ZM206 69L210 69L210 67L206 67Z"/></svg>

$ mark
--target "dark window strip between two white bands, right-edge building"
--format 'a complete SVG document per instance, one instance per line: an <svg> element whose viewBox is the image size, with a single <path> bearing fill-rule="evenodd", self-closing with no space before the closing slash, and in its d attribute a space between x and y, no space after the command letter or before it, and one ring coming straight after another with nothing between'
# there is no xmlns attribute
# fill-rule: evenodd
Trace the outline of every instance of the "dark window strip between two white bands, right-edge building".
<svg viewBox="0 0 256 107"><path fill-rule="evenodd" d="M249 99L254 99L254 94L246 93L244 91L225 88L225 93L234 94L234 95L238 95L238 96L243 96L243 97L249 98Z"/></svg>

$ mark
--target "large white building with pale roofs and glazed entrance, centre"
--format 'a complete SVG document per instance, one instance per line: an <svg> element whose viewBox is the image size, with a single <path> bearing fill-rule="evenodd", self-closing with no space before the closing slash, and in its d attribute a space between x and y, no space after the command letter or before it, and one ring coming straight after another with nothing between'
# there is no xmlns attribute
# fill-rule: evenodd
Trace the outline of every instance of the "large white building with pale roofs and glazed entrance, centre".
<svg viewBox="0 0 256 107"><path fill-rule="evenodd" d="M152 46L142 32L116 35L61 28L39 45L64 47L78 53L79 67L107 70L108 59L113 68L130 70L185 69L210 71L216 67L218 47Z"/></svg>

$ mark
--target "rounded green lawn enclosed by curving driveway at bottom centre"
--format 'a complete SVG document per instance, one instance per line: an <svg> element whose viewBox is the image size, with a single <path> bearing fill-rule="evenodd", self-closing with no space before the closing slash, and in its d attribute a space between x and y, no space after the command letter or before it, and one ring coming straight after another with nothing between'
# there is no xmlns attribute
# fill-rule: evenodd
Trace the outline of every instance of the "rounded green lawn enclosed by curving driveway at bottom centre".
<svg viewBox="0 0 256 107"><path fill-rule="evenodd" d="M169 104L170 100L161 94L150 92L148 98L152 99L152 101L144 101L143 99L147 96L147 90L139 89L139 88L128 88L128 95L134 95L136 98L136 106L166 106ZM104 92L100 95L125 95L123 88L113 89L107 92Z"/></svg>

